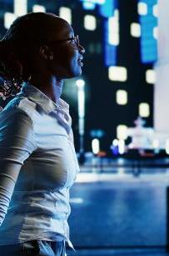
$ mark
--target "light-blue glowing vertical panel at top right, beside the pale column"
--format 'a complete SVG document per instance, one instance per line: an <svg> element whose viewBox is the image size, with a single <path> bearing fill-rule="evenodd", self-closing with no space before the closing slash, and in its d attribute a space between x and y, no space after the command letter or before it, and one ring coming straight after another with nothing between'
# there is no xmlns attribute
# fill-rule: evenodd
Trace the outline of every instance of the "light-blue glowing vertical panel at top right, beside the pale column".
<svg viewBox="0 0 169 256"><path fill-rule="evenodd" d="M157 39L153 36L153 29L157 27L157 17L153 15L153 6L157 0L142 0L147 4L147 15L140 16L141 23L141 58L142 63L154 63L157 61Z"/></svg>

